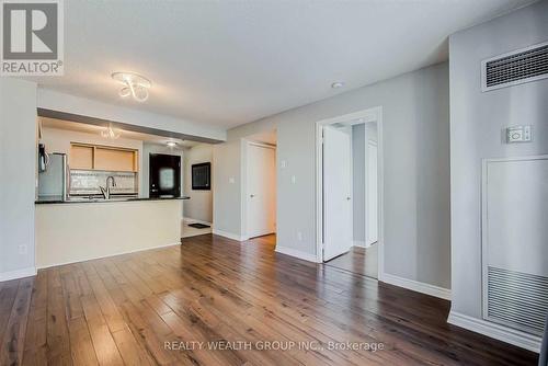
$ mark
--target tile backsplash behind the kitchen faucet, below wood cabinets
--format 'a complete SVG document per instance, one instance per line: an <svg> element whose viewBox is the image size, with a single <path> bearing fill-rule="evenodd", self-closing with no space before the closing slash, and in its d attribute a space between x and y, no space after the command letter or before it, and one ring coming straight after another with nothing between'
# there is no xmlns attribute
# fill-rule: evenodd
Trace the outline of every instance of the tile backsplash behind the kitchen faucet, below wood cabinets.
<svg viewBox="0 0 548 366"><path fill-rule="evenodd" d="M116 181L116 186L111 187L112 194L138 194L135 172L71 169L69 175L69 195L101 194L99 186L105 187L109 176L113 176Z"/></svg>

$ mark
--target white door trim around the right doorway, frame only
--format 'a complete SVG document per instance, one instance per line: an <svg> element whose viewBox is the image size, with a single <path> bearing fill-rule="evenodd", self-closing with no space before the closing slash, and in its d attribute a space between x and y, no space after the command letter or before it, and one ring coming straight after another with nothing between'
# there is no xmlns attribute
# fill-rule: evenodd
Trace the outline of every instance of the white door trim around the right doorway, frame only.
<svg viewBox="0 0 548 366"><path fill-rule="evenodd" d="M384 144L383 144L383 106L341 115L316 122L316 261L323 263L323 127L336 123L357 125L367 122L377 123L377 220L378 220L378 255L377 279L384 279L385 273L385 216L384 216ZM366 222L364 222L366 225Z"/></svg>

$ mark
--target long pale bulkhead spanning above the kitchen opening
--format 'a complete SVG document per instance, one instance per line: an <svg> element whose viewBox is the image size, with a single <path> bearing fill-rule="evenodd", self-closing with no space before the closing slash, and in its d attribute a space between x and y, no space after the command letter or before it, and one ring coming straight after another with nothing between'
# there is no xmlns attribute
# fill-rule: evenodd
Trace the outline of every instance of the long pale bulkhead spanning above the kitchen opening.
<svg viewBox="0 0 548 366"><path fill-rule="evenodd" d="M117 98L117 95L113 95L113 98ZM47 89L38 89L37 105L42 108L121 122L135 126L157 128L217 140L226 139L226 131L220 127L209 127L191 121L102 103Z"/></svg>

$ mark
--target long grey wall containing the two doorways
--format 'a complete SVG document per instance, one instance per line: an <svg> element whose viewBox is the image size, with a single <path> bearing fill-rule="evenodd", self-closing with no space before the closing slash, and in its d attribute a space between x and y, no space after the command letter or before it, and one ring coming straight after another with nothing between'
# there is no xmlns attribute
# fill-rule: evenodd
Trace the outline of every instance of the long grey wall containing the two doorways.
<svg viewBox="0 0 548 366"><path fill-rule="evenodd" d="M381 105L385 272L448 288L448 66L439 64L229 130L233 146L241 137L277 129L278 243L316 255L316 122ZM216 151L221 150L227 155L215 153L216 164L219 158L233 168L224 167L225 175L238 176L238 147ZM221 210L214 207L215 225L239 230L238 184L222 190L230 196L215 191L215 202L224 204Z"/></svg>

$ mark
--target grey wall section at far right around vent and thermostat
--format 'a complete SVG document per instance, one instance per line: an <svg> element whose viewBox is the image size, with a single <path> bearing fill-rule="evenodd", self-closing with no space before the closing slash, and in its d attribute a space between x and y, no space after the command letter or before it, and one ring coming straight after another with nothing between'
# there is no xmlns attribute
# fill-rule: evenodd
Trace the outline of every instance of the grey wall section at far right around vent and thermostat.
<svg viewBox="0 0 548 366"><path fill-rule="evenodd" d="M449 39L452 310L481 318L481 161L548 153L548 80L482 93L486 58L548 41L548 2L456 33ZM533 126L533 142L506 145L509 125Z"/></svg>

